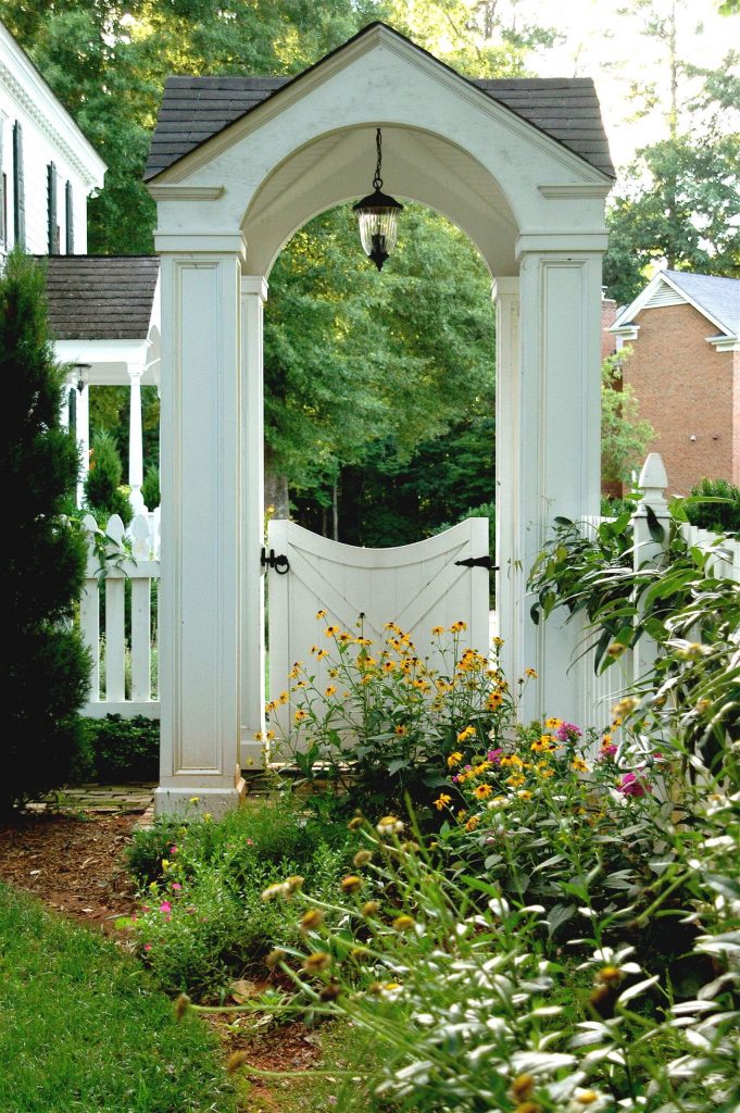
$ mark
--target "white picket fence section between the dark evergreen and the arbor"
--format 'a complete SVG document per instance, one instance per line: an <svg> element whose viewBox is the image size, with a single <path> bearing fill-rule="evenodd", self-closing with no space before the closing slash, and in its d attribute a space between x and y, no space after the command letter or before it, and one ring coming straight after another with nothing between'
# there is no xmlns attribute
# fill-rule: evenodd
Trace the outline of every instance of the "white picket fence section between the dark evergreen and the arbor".
<svg viewBox="0 0 740 1113"><path fill-rule="evenodd" d="M89 538L80 626L92 667L82 715L158 719L159 700L152 692L157 647L151 582L159 579L159 511L137 515L128 530L118 514L108 520L105 531L90 514L83 524Z"/></svg>

